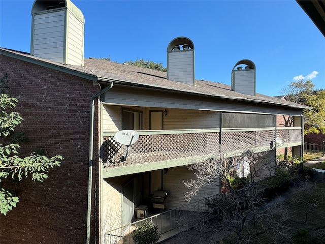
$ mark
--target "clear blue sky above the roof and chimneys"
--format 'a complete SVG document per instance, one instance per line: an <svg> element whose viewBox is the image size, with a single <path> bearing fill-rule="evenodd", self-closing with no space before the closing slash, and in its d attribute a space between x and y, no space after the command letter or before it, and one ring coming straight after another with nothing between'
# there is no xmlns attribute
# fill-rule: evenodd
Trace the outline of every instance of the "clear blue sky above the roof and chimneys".
<svg viewBox="0 0 325 244"><path fill-rule="evenodd" d="M194 43L196 79L231 84L241 59L256 66L256 92L282 95L291 81L325 88L325 38L294 0L72 0L85 17L85 57L163 62L176 37ZM34 1L0 0L0 46L30 52Z"/></svg>

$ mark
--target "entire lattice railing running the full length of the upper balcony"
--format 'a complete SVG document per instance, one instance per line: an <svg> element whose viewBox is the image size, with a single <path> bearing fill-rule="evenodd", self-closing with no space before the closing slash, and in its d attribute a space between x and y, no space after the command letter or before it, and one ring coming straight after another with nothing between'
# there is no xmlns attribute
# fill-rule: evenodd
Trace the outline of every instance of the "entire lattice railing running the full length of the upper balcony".
<svg viewBox="0 0 325 244"><path fill-rule="evenodd" d="M114 139L115 133L104 133L101 159L106 166L117 167L148 162L190 158L204 155L220 155L234 150L262 148L273 149L275 137L285 140L286 145L302 141L301 127L258 129L203 129L138 131L139 140L126 146Z"/></svg>

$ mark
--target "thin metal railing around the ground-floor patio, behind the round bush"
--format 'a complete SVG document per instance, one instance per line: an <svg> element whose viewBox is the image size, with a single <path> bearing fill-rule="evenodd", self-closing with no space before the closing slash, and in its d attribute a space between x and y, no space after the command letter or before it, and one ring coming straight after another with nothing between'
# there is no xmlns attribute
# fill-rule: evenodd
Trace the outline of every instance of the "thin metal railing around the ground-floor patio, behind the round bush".
<svg viewBox="0 0 325 244"><path fill-rule="evenodd" d="M134 244L132 231L141 226L145 221L150 221L158 226L159 235L175 230L181 226L182 220L189 218L194 212L200 214L207 211L206 201L216 196L210 196L111 230L105 234L105 244Z"/></svg>

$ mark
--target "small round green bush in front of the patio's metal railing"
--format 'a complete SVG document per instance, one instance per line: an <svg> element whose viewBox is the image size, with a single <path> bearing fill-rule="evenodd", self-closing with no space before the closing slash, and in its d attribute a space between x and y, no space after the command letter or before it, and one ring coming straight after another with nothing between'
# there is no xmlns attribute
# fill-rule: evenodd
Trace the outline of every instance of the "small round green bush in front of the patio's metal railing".
<svg viewBox="0 0 325 244"><path fill-rule="evenodd" d="M158 227L150 221L144 222L132 231L132 238L136 244L155 244L159 240Z"/></svg>

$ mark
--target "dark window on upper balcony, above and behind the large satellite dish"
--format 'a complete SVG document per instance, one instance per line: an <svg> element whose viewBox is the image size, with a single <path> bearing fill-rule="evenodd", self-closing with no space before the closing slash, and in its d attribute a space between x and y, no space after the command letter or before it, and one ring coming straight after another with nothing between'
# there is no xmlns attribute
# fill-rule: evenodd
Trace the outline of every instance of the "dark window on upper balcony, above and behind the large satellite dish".
<svg viewBox="0 0 325 244"><path fill-rule="evenodd" d="M122 130L143 130L142 112L122 110Z"/></svg>

